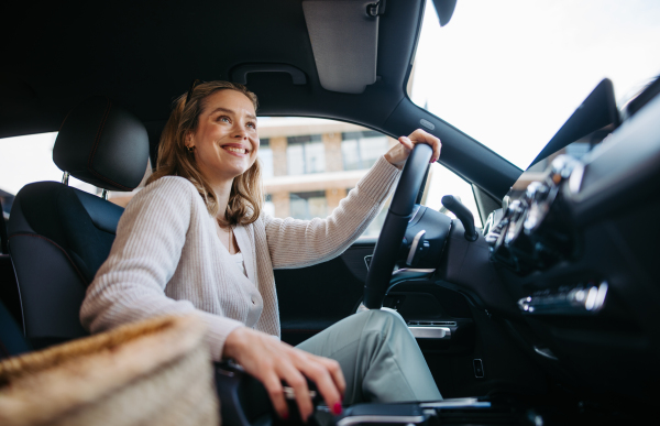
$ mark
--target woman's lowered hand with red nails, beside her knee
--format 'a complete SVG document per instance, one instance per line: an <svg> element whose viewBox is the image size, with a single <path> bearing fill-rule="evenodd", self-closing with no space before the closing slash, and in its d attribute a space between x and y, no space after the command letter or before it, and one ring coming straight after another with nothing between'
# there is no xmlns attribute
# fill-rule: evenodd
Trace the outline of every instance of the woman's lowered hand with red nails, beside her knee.
<svg viewBox="0 0 660 426"><path fill-rule="evenodd" d="M223 351L223 358L234 359L264 384L275 411L283 419L287 419L289 413L282 381L294 389L300 418L305 420L312 414L314 406L305 378L316 383L334 414L341 413L345 381L337 361L307 353L273 336L245 327L237 328L227 337Z"/></svg>

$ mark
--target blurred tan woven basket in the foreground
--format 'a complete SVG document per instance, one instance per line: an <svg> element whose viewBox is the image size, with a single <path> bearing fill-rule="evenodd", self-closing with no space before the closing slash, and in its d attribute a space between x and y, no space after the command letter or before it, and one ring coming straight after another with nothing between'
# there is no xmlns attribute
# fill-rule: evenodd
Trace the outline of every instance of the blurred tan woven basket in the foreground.
<svg viewBox="0 0 660 426"><path fill-rule="evenodd" d="M0 362L0 425L220 424L206 326L161 317Z"/></svg>

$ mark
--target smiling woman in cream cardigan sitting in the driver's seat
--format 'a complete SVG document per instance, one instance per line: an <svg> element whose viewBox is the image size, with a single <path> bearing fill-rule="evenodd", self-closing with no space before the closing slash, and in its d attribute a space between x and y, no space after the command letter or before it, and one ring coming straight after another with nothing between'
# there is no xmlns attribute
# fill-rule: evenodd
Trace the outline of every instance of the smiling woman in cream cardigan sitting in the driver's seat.
<svg viewBox="0 0 660 426"><path fill-rule="evenodd" d="M97 332L196 310L209 326L212 358L232 358L262 381L283 418L282 381L294 387L301 418L311 414L305 376L336 414L344 396L346 403L441 398L395 314L353 315L302 350L273 338L279 336L273 269L342 253L381 210L414 144L430 144L436 161L440 141L421 130L402 136L327 219L276 219L261 210L256 107L254 94L226 81L201 84L175 102L157 170L119 222L87 291L82 325Z"/></svg>

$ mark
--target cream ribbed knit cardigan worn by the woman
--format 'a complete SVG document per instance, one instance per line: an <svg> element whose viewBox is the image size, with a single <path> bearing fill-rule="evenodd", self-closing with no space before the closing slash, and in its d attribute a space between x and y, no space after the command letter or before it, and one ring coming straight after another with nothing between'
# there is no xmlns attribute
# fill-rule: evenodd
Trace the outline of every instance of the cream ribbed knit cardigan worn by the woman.
<svg viewBox="0 0 660 426"><path fill-rule="evenodd" d="M215 360L238 327L279 337L273 270L305 267L341 254L381 211L398 175L381 157L326 219L262 215L238 226L234 236L248 277L220 242L195 186L183 177L162 177L138 193L122 215L110 255L87 290L82 326L99 332L197 310L208 325Z"/></svg>

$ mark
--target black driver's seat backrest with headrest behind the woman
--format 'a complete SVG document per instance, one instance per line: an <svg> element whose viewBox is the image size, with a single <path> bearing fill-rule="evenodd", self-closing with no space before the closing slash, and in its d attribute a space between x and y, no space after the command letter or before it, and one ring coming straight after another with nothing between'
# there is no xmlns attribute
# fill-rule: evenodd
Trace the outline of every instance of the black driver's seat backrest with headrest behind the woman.
<svg viewBox="0 0 660 426"><path fill-rule="evenodd" d="M107 98L69 112L53 160L80 181L111 190L134 189L146 171L144 125ZM35 348L86 336L79 310L87 286L107 259L123 208L56 182L24 186L8 223L24 332Z"/></svg>

